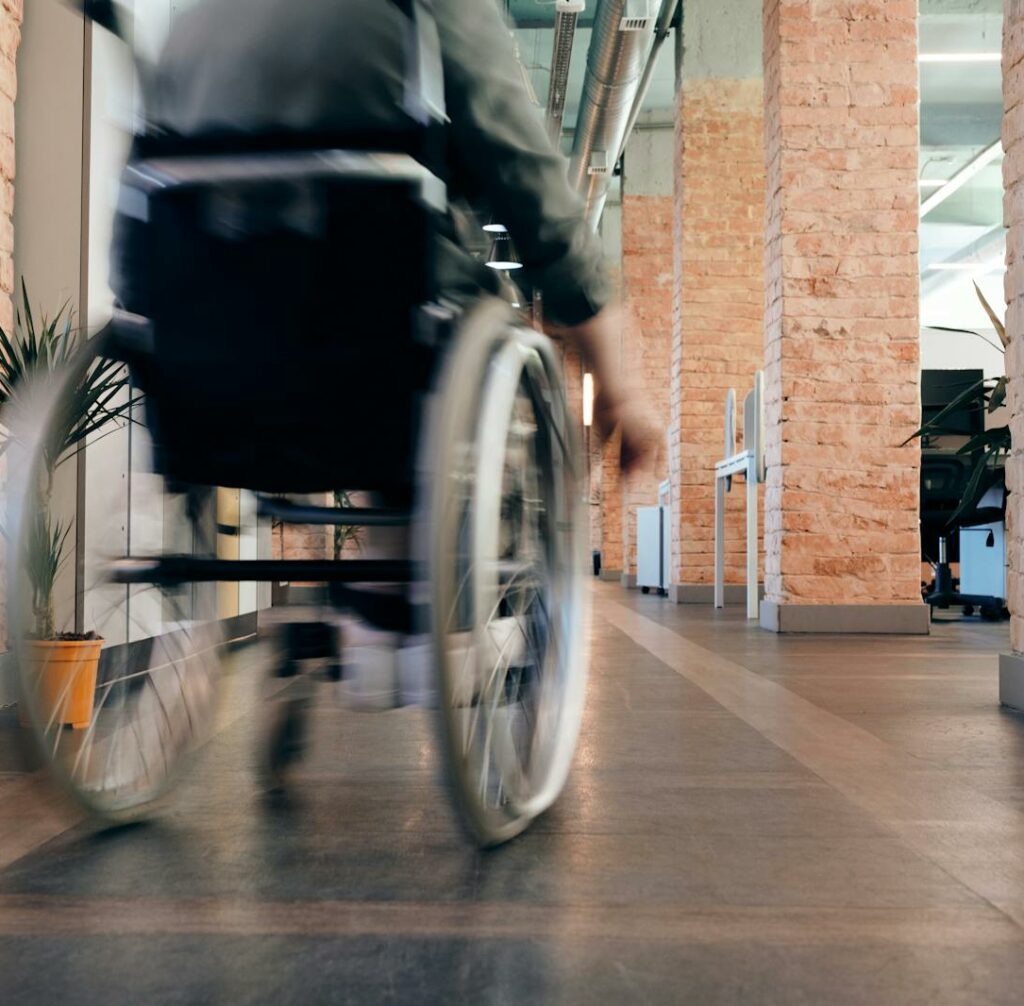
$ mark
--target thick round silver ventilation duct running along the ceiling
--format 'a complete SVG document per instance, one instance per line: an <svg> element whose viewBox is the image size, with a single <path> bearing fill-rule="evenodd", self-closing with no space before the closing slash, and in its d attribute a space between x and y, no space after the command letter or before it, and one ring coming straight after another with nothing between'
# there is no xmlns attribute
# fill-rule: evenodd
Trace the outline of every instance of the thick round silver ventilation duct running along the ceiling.
<svg viewBox="0 0 1024 1006"><path fill-rule="evenodd" d="M594 229L640 86L656 6L655 0L599 0L569 168Z"/></svg>

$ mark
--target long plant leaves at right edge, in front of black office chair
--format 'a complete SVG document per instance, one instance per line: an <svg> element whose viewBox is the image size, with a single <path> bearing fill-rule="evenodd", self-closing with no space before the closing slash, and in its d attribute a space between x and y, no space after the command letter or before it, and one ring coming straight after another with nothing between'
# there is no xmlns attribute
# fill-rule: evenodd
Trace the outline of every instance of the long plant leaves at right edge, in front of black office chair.
<svg viewBox="0 0 1024 1006"><path fill-rule="evenodd" d="M1006 349L1009 343L1006 326L1001 321L999 321L995 311L992 310L991 304L989 304L977 283L974 285L974 290L978 295L978 300L981 302L985 313L992 323L992 328L995 329L995 334L998 336L999 344L997 346L989 339L986 339L980 332L974 332L970 329L945 328L939 325L933 325L930 326L930 328L936 332L954 332L961 335L975 336L987 345L998 349L999 352L1006 355ZM947 425L952 416L955 416L964 409L971 408L972 406L979 410L983 410L985 413L990 415L1006 402L1006 376L998 378L983 378L977 383L971 385L971 387L967 388L961 394L956 395L956 397L953 399L953 401L942 409L936 416L925 423L920 429L914 430L914 432L911 433L910 436L903 442L903 444L909 444L910 441L915 439L916 437L921 437L927 442L928 439L936 436L948 436L955 432L955 430L950 429ZM950 525L958 520L965 513L970 513L978 505L990 485L989 476L991 472L1004 463L1007 455L1010 454L1010 426L1002 425L992 426L989 429L978 433L976 436L972 436L962 448L957 450L957 454L966 454L972 457L974 467L972 468L971 477L968 480L967 488L964 491L964 496L956 509L949 517Z"/></svg>

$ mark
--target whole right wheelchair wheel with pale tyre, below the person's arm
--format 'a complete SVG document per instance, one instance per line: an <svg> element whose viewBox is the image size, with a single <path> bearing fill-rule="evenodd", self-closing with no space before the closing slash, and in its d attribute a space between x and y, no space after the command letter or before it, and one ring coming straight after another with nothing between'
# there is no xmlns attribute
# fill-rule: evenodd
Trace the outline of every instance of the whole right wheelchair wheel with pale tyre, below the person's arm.
<svg viewBox="0 0 1024 1006"><path fill-rule="evenodd" d="M429 582L442 748L471 835L496 845L561 792L586 661L579 452L551 344L486 301L435 404Z"/></svg>

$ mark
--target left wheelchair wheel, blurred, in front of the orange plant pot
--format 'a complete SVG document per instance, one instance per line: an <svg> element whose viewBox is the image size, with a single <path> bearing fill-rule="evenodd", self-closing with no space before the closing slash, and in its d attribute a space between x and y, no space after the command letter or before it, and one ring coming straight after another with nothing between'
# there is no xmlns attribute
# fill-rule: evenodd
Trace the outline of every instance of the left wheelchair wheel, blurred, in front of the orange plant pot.
<svg viewBox="0 0 1024 1006"><path fill-rule="evenodd" d="M223 634L216 584L138 576L158 555L214 554L215 494L157 473L140 393L109 344L58 346L5 410L8 635L22 720L51 773L121 823L211 730Z"/></svg>

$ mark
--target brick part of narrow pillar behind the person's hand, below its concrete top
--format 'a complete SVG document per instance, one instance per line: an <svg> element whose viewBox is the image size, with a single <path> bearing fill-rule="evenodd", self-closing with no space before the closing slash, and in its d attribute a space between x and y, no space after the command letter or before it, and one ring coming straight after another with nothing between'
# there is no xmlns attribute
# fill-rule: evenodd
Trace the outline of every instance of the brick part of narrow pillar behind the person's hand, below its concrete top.
<svg viewBox="0 0 1024 1006"><path fill-rule="evenodd" d="M673 216L671 196L623 196L623 375L651 417L664 424L653 464L621 478L622 569L629 574L636 573L636 509L657 504L657 487L669 471Z"/></svg>

